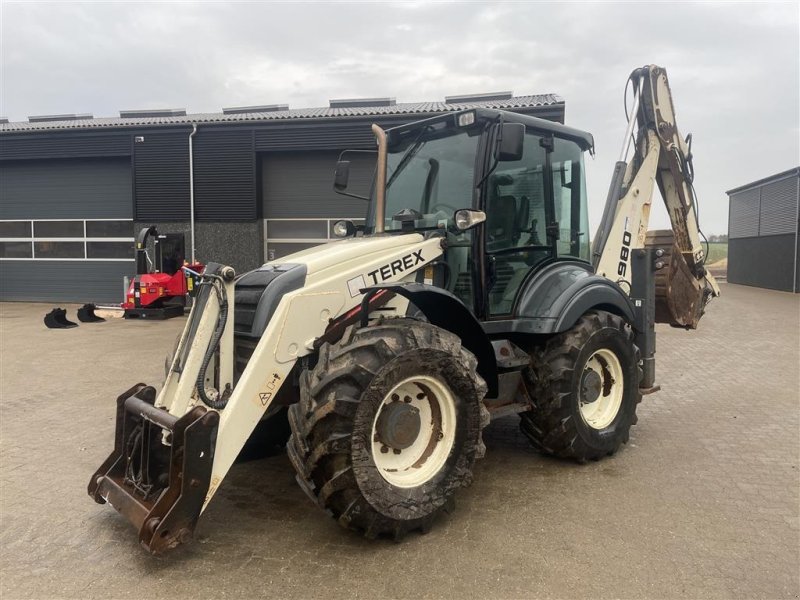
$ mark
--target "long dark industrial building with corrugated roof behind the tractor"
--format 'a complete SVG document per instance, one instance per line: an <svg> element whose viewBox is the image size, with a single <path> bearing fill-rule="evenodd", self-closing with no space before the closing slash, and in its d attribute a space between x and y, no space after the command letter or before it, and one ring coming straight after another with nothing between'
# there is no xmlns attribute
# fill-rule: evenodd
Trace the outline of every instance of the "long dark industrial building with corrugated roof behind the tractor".
<svg viewBox="0 0 800 600"><path fill-rule="evenodd" d="M0 300L119 302L149 225L186 232L187 253L193 229L198 260L238 272L326 242L335 220L365 215L332 181L342 150L374 148L371 123L475 107L564 122L559 96L511 92L0 119ZM362 156L351 181L368 187L374 159Z"/></svg>

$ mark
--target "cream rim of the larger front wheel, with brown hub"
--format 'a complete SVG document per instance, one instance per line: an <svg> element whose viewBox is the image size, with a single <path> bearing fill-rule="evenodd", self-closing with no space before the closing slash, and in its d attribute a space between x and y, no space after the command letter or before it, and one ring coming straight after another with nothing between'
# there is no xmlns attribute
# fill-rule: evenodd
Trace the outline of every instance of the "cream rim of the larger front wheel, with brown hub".
<svg viewBox="0 0 800 600"><path fill-rule="evenodd" d="M372 456L386 481L417 487L442 469L455 437L453 393L437 379L417 375L384 396L372 422Z"/></svg>

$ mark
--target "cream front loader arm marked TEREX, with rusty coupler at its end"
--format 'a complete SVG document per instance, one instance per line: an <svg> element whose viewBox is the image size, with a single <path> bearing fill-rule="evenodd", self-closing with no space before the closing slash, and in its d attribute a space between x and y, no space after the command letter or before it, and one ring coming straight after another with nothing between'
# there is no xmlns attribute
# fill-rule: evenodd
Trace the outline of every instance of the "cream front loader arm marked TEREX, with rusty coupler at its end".
<svg viewBox="0 0 800 600"><path fill-rule="evenodd" d="M348 242L339 242L339 248L347 249ZM315 352L316 340L332 320L361 304L361 290L414 278L442 254L441 238L419 234L373 238L356 247L364 252L337 254L333 246L327 248L292 257L306 263L305 284L277 298L235 386L236 284L232 277L213 284L207 278L161 392L156 397L152 387L139 384L118 399L114 451L92 476L88 491L125 515L149 551L163 552L191 539L200 514L287 385L297 360ZM213 275L219 265L209 267ZM203 377L209 348L213 360ZM201 398L200 381L211 405Z"/></svg>

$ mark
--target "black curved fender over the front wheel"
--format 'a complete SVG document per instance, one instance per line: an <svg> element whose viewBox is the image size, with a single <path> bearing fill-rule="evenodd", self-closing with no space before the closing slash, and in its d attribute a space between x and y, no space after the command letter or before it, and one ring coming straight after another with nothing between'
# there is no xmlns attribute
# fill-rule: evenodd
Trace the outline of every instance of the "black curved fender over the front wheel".
<svg viewBox="0 0 800 600"><path fill-rule="evenodd" d="M387 290L407 298L422 311L432 325L446 329L461 338L464 347L478 359L478 374L489 388L487 396L497 396L497 361L494 349L480 322L461 300L445 289L416 282L395 282L362 289L366 306L380 290Z"/></svg>

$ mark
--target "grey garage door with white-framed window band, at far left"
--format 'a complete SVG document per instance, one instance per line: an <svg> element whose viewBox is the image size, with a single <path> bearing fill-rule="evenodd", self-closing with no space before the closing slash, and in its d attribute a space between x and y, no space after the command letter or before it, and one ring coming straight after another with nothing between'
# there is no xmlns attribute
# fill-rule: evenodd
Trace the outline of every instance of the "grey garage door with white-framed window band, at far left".
<svg viewBox="0 0 800 600"><path fill-rule="evenodd" d="M0 300L119 302L133 237L130 159L0 164Z"/></svg>

